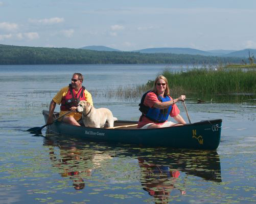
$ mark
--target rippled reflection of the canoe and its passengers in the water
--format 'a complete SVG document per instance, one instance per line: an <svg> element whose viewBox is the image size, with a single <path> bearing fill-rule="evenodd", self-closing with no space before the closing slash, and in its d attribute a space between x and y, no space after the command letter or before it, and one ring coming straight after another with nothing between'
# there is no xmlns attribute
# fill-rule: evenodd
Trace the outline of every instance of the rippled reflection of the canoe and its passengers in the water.
<svg viewBox="0 0 256 204"><path fill-rule="evenodd" d="M111 146L109 143L88 142L48 133L43 145L49 148L52 166L61 177L70 178L76 190L85 187L84 181L89 180L94 171L109 170L107 168L111 165L106 168L105 164L124 157L137 159L140 175L134 182L140 181L142 188L160 203L167 203L173 189L185 194L184 181L187 176L221 182L220 160L216 151L149 149L124 144Z"/></svg>

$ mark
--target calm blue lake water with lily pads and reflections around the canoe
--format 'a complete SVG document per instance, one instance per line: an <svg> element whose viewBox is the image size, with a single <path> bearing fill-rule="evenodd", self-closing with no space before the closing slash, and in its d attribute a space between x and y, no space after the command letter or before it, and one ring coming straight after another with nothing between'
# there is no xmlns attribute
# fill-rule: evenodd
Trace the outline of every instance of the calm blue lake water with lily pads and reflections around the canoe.
<svg viewBox="0 0 256 204"><path fill-rule="evenodd" d="M42 109L74 72L84 74L96 108L107 107L120 120L137 120L138 100L96 93L146 83L165 68L0 66L0 203L256 203L255 97L197 104L188 96L192 122L223 119L217 151L138 148L26 131L43 125Z"/></svg>

